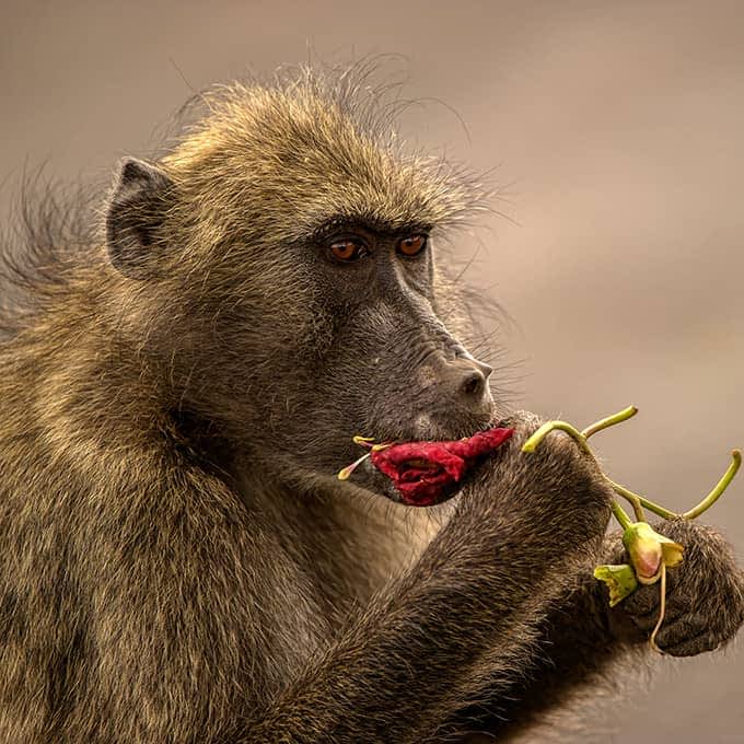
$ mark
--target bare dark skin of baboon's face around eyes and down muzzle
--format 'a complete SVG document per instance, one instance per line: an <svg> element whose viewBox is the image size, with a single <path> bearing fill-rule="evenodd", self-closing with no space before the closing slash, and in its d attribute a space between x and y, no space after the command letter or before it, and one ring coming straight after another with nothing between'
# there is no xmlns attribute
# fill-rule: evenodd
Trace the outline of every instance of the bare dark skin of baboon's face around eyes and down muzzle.
<svg viewBox="0 0 744 744"><path fill-rule="evenodd" d="M277 414L283 430L266 456L278 458L278 468L290 458L333 474L359 454L353 433L376 441L458 439L493 425L491 368L474 359L437 314L430 229L336 219L282 252L313 277L333 338L329 352L311 362L311 395L298 393L292 420ZM293 363L297 369L303 360ZM286 444L284 432L291 432ZM356 480L399 498L369 466Z"/></svg>

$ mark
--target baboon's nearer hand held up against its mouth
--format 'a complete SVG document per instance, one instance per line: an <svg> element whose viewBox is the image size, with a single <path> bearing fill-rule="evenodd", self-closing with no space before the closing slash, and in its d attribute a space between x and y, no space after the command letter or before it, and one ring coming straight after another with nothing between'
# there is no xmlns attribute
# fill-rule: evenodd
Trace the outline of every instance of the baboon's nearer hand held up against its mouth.
<svg viewBox="0 0 744 744"><path fill-rule="evenodd" d="M562 555L578 545L598 547L611 515L611 488L594 460L563 432L551 432L532 453L522 445L543 421L520 411L501 426L514 427L514 435L466 486L461 501L463 516L480 524L508 524L551 545Z"/></svg>

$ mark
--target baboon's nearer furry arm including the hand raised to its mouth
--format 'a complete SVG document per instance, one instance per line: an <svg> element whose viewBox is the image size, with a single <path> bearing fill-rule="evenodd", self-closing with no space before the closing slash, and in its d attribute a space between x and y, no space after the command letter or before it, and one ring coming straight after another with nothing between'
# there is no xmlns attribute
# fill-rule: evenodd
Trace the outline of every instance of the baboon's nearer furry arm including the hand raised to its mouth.
<svg viewBox="0 0 744 744"><path fill-rule="evenodd" d="M579 557L596 558L608 519L602 480L560 449L535 469L496 468L464 493L415 569L248 716L237 741L437 741L486 690L509 693L534 656L540 618ZM571 498L549 511L561 481L574 485Z"/></svg>

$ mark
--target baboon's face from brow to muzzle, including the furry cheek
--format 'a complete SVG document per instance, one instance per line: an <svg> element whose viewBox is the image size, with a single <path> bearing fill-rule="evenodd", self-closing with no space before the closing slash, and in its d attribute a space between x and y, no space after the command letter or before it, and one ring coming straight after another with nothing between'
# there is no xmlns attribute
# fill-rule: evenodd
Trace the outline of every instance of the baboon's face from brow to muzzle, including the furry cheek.
<svg viewBox="0 0 744 744"><path fill-rule="evenodd" d="M260 344L245 358L260 360L254 405L278 467L333 475L362 454L354 434L456 439L491 422L491 370L437 312L434 242L425 224L334 221L247 267L274 295L251 311ZM354 483L394 498L369 468Z"/></svg>

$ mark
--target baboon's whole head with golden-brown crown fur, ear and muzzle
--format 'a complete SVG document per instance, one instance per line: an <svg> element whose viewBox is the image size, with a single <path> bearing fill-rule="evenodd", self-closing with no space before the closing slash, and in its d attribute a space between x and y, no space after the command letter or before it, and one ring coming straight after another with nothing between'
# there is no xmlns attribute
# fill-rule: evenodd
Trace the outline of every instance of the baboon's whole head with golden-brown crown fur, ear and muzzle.
<svg viewBox="0 0 744 744"><path fill-rule="evenodd" d="M359 453L353 434L487 427L491 370L454 335L457 301L435 264L478 188L402 154L344 80L206 100L156 166L124 162L106 222L137 298L129 328L174 411L271 469L329 477Z"/></svg>

